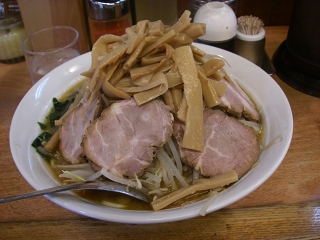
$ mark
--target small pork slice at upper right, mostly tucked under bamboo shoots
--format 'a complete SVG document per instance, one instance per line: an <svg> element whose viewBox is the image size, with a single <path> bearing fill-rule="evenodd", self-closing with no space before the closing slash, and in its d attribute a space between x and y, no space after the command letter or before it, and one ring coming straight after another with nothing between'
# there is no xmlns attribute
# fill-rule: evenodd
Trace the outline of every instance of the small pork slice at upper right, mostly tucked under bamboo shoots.
<svg viewBox="0 0 320 240"><path fill-rule="evenodd" d="M220 98L219 107L234 116L261 123L260 114L254 103L242 89L236 83L230 83L225 79L220 81L225 83L227 88L225 94Z"/></svg>

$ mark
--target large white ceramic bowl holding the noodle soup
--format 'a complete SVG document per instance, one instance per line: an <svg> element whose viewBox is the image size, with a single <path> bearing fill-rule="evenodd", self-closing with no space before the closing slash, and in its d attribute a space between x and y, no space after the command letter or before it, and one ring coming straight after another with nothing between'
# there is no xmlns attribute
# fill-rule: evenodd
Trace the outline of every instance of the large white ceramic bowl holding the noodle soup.
<svg viewBox="0 0 320 240"><path fill-rule="evenodd" d="M262 144L269 143L277 135L283 140L265 150L258 165L232 187L222 192L209 207L208 213L228 206L248 195L277 169L289 148L293 120L290 105L277 83L261 68L230 52L195 44L210 54L223 56L231 68L232 76L245 88L258 106L262 107L265 134ZM13 116L10 129L10 147L14 162L23 177L36 190L58 185L43 160L31 147L33 139L40 133L37 122L41 122L51 108L52 98L61 96L68 88L80 81L79 74L90 68L90 53L81 55L59 66L24 96ZM23 119L23 123L21 123ZM14 186L14 182L12 183ZM272 192L270 192L272 194ZM50 201L78 214L96 219L131 223L149 224L171 222L199 216L204 201L183 208L153 211L120 210L91 204L72 193L46 196Z"/></svg>

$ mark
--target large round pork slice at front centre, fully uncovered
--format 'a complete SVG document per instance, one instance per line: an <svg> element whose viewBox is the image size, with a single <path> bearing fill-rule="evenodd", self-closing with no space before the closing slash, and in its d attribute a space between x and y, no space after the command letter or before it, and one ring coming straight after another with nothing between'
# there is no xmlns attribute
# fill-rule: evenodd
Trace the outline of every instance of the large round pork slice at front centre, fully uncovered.
<svg viewBox="0 0 320 240"><path fill-rule="evenodd" d="M113 103L83 137L86 157L118 177L142 175L172 135L173 116L159 100L138 106L132 98Z"/></svg>

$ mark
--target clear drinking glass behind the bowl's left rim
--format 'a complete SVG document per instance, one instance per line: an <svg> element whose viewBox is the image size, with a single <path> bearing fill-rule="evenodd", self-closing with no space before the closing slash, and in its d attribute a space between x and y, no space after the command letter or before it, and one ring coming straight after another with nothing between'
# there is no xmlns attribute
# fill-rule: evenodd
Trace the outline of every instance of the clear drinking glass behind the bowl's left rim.
<svg viewBox="0 0 320 240"><path fill-rule="evenodd" d="M68 26L53 26L28 35L22 49L32 84L64 62L80 55L79 33Z"/></svg>

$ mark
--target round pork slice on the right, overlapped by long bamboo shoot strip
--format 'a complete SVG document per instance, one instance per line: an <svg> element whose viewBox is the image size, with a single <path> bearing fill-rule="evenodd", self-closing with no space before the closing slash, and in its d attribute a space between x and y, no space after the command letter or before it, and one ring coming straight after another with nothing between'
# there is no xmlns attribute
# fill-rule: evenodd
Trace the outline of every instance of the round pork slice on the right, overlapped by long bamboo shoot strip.
<svg viewBox="0 0 320 240"><path fill-rule="evenodd" d="M221 110L203 112L205 148L197 152L181 148L184 124L174 122L173 135L177 139L181 159L207 177L235 170L240 177L246 174L260 154L257 133Z"/></svg>

